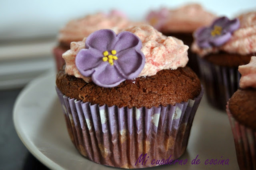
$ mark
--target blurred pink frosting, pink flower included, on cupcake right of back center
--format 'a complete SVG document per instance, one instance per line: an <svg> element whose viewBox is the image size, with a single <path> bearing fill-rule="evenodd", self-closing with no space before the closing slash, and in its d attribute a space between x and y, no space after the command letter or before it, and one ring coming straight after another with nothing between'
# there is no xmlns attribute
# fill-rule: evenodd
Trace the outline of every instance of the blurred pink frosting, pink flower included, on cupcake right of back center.
<svg viewBox="0 0 256 170"><path fill-rule="evenodd" d="M150 22L152 26L164 32L193 32L200 26L209 25L214 18L216 16L204 10L200 4L188 4L173 10L162 8L147 16L148 22L153 21Z"/></svg>

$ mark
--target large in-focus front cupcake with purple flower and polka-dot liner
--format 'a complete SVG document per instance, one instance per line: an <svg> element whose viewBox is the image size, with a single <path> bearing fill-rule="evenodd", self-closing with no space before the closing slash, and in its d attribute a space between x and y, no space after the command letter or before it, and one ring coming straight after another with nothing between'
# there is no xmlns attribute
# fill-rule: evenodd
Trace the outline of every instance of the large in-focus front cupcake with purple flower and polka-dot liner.
<svg viewBox="0 0 256 170"><path fill-rule="evenodd" d="M186 66L187 50L150 25L98 30L72 42L56 90L80 154L119 168L182 156L203 94Z"/></svg>

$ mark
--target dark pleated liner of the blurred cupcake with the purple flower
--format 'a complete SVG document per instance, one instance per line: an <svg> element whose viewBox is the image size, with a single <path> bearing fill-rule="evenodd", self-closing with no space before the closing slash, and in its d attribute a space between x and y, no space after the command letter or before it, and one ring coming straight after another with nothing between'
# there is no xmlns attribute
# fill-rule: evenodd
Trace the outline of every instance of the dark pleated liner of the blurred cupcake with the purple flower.
<svg viewBox="0 0 256 170"><path fill-rule="evenodd" d="M227 101L239 88L241 74L238 67L218 66L203 58L198 58L200 78L205 87L210 105L225 110Z"/></svg>

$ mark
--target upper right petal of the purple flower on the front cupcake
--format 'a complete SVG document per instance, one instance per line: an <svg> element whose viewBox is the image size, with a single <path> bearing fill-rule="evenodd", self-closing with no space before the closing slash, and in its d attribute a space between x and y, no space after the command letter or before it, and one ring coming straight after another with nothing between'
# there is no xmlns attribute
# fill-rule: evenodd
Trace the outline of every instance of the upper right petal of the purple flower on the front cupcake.
<svg viewBox="0 0 256 170"><path fill-rule="evenodd" d="M128 48L135 48L140 50L142 47L142 42L140 41L140 38L133 34L132 32L124 31L120 32L114 44L112 44L111 49L116 50L117 52L120 52L122 50L126 50Z"/></svg>

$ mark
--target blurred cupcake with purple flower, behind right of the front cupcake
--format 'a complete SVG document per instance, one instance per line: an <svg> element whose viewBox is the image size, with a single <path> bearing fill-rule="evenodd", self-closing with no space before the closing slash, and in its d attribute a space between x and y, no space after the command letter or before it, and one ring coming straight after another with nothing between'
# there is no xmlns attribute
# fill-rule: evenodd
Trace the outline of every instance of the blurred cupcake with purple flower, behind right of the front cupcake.
<svg viewBox="0 0 256 170"><path fill-rule="evenodd" d="M221 110L239 87L238 66L248 64L256 52L256 12L233 20L216 19L194 32L192 51L198 55L208 102Z"/></svg>

